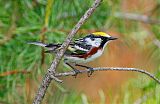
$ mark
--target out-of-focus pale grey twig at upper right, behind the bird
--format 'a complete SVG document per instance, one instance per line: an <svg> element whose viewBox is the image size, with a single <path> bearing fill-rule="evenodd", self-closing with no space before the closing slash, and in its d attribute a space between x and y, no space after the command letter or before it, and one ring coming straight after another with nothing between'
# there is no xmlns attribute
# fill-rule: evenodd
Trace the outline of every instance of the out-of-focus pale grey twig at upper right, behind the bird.
<svg viewBox="0 0 160 104"><path fill-rule="evenodd" d="M150 18L147 15L140 15L140 14L135 14L135 13L115 13L114 16L116 18L121 18L121 19L127 19L127 20L134 20L134 21L140 21L148 24L157 24L160 25L160 21L157 19Z"/></svg>

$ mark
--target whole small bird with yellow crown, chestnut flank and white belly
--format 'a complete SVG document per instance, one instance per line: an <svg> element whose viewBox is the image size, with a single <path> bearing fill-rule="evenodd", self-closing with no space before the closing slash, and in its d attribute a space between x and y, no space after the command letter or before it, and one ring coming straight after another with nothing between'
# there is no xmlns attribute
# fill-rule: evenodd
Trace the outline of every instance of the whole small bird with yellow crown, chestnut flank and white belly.
<svg viewBox="0 0 160 104"><path fill-rule="evenodd" d="M103 54L106 45L110 41L116 39L118 38L112 37L105 32L93 32L89 33L85 37L75 39L70 42L64 53L64 63L73 69L75 77L80 73L80 71L74 66L89 69L90 71L88 76L90 76L93 73L93 68L81 64L93 61L100 57ZM57 53L62 45L60 43L46 44L42 42L28 42L28 44L44 47L47 49L47 51L45 51L46 53Z"/></svg>

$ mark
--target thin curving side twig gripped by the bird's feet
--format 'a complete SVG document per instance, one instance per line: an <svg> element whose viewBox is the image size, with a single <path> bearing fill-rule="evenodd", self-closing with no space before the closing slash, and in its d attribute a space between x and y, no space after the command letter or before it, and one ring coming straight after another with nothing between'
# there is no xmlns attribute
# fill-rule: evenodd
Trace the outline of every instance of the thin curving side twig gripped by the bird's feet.
<svg viewBox="0 0 160 104"><path fill-rule="evenodd" d="M93 68L92 70L93 71L135 71L135 72L146 74L147 76L151 77L153 80L155 80L157 83L160 84L160 80L156 78L153 74L149 73L148 71L138 69L138 68L97 67L97 68ZM89 71L90 71L89 69L80 70L80 73L87 73ZM71 76L71 75L72 76L75 75L75 72L69 71L69 72L64 72L64 73L58 73L58 74L55 74L55 77Z"/></svg>

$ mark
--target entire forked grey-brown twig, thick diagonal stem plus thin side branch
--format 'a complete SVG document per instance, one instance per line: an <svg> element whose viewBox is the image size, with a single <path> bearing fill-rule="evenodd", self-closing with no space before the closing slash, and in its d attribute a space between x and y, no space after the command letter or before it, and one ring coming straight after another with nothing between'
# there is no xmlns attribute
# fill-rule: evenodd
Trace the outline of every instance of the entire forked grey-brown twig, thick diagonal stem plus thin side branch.
<svg viewBox="0 0 160 104"><path fill-rule="evenodd" d="M102 0L95 0L93 5L86 11L86 13L79 20L79 22L75 25L75 27L68 34L67 39L62 44L61 49L56 54L55 59L53 60L50 68L48 69L47 73L45 74L45 76L43 78L43 81L40 85L40 88L38 89L38 92L36 93L36 97L33 101L33 104L40 104L42 102L43 97L46 93L46 90L47 90L48 86L50 85L52 79L54 79L57 82L62 82L62 80L58 79L57 77L69 76L69 75L75 75L76 74L75 72L72 72L72 71L64 72L64 73L56 73L56 68L57 68L61 58L63 57L64 52L66 51L69 43L71 42L73 36L77 33L77 31L84 24L84 22L90 17L90 15L94 12L94 10L99 6L101 1ZM102 70L104 70L104 71L105 70L137 71L137 72L147 74L148 76L150 76L151 78L156 80L158 83L160 83L160 81L157 78L155 78L154 75L150 74L147 71L139 70L139 69L136 69L136 68L93 68L93 70L94 71L102 71ZM85 72L89 72L89 69L80 71L80 73L85 73Z"/></svg>

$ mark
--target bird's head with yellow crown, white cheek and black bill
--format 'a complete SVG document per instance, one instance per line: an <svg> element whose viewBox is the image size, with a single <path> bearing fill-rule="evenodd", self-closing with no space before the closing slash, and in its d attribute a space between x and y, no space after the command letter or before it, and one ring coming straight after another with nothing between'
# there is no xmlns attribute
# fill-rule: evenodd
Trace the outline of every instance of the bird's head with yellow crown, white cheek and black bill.
<svg viewBox="0 0 160 104"><path fill-rule="evenodd" d="M85 40L89 45L103 48L109 41L116 39L105 32L94 32L88 35Z"/></svg>

